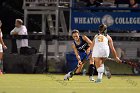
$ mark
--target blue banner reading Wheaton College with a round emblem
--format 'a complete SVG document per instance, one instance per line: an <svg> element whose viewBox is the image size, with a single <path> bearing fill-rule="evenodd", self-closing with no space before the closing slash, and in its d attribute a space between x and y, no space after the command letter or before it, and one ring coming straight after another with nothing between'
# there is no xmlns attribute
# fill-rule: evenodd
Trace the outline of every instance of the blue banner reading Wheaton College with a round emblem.
<svg viewBox="0 0 140 93"><path fill-rule="evenodd" d="M98 30L100 24L106 24L108 30L140 30L139 12L79 12L71 13L71 29Z"/></svg>

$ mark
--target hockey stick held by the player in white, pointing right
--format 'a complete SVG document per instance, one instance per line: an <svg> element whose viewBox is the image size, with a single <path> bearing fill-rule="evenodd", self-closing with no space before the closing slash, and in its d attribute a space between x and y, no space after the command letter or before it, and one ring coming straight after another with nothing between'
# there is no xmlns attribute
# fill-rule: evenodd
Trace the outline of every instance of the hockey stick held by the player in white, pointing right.
<svg viewBox="0 0 140 93"><path fill-rule="evenodd" d="M116 60L113 59L113 58L107 58L107 60L116 61ZM135 68L137 68L137 69L140 69L140 63L132 62L132 61L130 61L130 60L121 60L121 63L127 64L127 65L129 65L129 66L131 66L131 67L135 67Z"/></svg>

